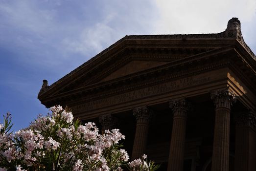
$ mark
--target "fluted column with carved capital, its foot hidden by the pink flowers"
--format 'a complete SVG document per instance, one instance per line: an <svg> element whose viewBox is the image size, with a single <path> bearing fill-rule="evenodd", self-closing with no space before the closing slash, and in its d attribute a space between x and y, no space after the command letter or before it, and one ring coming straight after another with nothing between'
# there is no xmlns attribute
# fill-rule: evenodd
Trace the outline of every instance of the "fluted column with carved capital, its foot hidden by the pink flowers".
<svg viewBox="0 0 256 171"><path fill-rule="evenodd" d="M133 109L133 115L136 117L137 124L133 144L132 160L141 158L141 155L145 153L149 121L153 115L153 111L146 106L137 107Z"/></svg>

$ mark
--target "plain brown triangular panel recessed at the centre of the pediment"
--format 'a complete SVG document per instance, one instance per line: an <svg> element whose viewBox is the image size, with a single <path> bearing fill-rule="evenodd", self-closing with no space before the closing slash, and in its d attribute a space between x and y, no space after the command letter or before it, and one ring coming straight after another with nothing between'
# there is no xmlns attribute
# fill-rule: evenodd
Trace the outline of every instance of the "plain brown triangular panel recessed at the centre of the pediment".
<svg viewBox="0 0 256 171"><path fill-rule="evenodd" d="M103 78L99 82L114 80L119 77L134 74L136 72L140 72L140 71L150 69L156 66L160 66L162 64L167 64L167 63L168 62L160 62L160 61L131 61L128 64L123 65L121 68L117 69L113 73L109 74L107 77Z"/></svg>

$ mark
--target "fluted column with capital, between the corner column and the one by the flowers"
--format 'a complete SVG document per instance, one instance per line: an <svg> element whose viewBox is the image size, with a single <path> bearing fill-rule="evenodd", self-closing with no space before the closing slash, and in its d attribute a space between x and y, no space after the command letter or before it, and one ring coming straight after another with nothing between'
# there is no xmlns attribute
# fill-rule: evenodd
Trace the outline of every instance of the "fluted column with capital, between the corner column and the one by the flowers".
<svg viewBox="0 0 256 171"><path fill-rule="evenodd" d="M191 107L185 99L172 100L169 105L173 111L173 126L167 171L183 171L186 115Z"/></svg>

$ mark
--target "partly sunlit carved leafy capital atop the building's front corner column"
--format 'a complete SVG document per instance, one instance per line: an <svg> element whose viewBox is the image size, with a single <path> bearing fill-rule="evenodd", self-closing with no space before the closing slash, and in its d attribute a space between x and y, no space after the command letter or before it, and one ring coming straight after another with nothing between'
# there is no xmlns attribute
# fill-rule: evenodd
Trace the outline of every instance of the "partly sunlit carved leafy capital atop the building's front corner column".
<svg viewBox="0 0 256 171"><path fill-rule="evenodd" d="M216 108L226 107L230 109L236 101L235 94L229 91L229 88L212 91L210 98L213 100Z"/></svg>

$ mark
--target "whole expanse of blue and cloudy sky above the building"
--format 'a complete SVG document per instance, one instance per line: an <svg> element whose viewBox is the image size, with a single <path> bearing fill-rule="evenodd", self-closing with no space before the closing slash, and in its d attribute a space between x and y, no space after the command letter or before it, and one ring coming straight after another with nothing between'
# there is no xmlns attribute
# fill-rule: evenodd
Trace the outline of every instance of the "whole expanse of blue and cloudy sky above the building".
<svg viewBox="0 0 256 171"><path fill-rule="evenodd" d="M256 0L0 0L0 115L27 127L48 112L42 80L51 85L125 35L218 33L232 17L256 53Z"/></svg>

